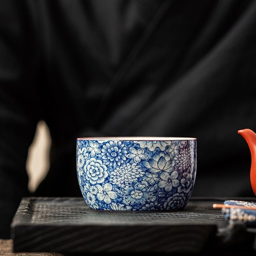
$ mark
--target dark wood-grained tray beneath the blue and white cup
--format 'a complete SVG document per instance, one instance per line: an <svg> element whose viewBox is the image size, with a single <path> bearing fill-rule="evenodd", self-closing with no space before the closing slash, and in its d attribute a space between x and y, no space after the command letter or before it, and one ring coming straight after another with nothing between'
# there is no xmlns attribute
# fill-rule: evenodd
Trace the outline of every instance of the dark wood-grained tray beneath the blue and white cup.
<svg viewBox="0 0 256 256"><path fill-rule="evenodd" d="M94 211L83 198L23 198L11 225L14 252L195 253L224 248L228 221L212 209L223 201L194 198L183 211L144 213ZM253 244L255 233L251 237ZM244 234L242 239L247 239Z"/></svg>

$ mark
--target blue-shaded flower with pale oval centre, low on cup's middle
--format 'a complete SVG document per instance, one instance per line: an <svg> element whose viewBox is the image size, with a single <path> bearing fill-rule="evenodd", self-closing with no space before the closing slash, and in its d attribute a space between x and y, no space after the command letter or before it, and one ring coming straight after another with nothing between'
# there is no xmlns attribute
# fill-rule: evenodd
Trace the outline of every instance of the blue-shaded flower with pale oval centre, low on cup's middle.
<svg viewBox="0 0 256 256"><path fill-rule="evenodd" d="M134 187L124 186L123 193L125 196L123 202L131 205L133 203L145 204L146 201L155 201L156 197L153 193L148 192L147 189L148 184L146 181L137 183Z"/></svg>

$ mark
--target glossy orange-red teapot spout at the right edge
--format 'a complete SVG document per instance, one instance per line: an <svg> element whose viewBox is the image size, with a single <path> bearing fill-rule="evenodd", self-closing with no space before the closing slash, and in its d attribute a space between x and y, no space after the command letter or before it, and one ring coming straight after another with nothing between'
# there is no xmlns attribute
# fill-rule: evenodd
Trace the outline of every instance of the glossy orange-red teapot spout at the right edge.
<svg viewBox="0 0 256 256"><path fill-rule="evenodd" d="M256 133L250 129L243 129L238 131L246 140L252 156L252 165L250 172L250 180L253 192L256 196Z"/></svg>

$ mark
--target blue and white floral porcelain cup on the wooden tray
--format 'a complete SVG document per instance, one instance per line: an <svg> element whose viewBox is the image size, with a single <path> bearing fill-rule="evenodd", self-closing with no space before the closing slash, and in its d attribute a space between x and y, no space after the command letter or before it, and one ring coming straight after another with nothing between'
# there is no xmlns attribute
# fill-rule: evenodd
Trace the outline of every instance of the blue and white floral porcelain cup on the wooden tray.
<svg viewBox="0 0 256 256"><path fill-rule="evenodd" d="M78 138L76 145L79 186L94 210L181 210L191 196L195 138Z"/></svg>

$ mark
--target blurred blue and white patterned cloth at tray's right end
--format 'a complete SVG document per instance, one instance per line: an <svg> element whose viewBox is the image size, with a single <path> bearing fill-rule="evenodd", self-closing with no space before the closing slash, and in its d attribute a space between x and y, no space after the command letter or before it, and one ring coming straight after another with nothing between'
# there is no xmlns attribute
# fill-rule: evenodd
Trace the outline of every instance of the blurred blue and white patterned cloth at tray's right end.
<svg viewBox="0 0 256 256"><path fill-rule="evenodd" d="M254 202L226 200L224 204L242 205L246 207L256 207ZM250 227L256 227L256 210L246 210L241 208L222 208L225 218L230 221L242 222Z"/></svg>

